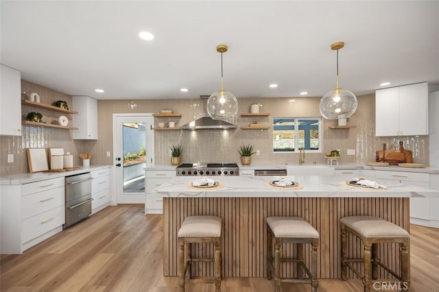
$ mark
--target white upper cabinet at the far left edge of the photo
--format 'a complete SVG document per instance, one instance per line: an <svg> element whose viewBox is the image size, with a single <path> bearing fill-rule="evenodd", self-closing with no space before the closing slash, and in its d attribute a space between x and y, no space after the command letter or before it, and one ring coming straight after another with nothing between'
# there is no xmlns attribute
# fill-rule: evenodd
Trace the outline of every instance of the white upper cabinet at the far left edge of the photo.
<svg viewBox="0 0 439 292"><path fill-rule="evenodd" d="M21 136L21 73L0 66L0 135Z"/></svg>

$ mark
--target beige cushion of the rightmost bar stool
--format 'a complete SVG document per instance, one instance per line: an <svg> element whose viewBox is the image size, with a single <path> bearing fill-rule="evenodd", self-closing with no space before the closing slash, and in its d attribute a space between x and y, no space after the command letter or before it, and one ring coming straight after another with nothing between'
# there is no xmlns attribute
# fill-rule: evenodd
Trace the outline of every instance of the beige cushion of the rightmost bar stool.
<svg viewBox="0 0 439 292"><path fill-rule="evenodd" d="M340 222L365 238L410 238L403 228L375 216L348 216L340 219Z"/></svg>

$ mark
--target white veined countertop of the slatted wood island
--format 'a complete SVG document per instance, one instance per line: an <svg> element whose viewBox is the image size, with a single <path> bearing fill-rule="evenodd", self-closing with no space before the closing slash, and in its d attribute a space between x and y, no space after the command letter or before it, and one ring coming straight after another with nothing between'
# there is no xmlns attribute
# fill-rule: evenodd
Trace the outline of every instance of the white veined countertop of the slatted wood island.
<svg viewBox="0 0 439 292"><path fill-rule="evenodd" d="M200 177L181 176L155 188L152 193L158 197L439 197L439 191L419 186L410 186L396 180L374 180L387 189L364 189L342 186L346 176L287 175L286 180L298 182L301 189L274 188L266 182L278 180L278 176L209 176L224 185L222 188L190 187Z"/></svg>

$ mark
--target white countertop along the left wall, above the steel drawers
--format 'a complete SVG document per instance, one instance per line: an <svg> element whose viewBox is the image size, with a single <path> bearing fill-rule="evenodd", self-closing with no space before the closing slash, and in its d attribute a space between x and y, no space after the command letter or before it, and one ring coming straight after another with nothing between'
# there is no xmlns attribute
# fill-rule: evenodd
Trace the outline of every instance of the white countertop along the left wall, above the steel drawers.
<svg viewBox="0 0 439 292"><path fill-rule="evenodd" d="M52 178L62 178L69 175L75 175L79 173L87 173L90 171L97 171L100 169L109 169L111 165L93 165L90 167L80 167L73 171L61 171L61 172L36 172L36 173L20 173L16 175L8 175L0 178L0 185L8 184L28 184L29 182L38 182L40 180L50 180Z"/></svg>

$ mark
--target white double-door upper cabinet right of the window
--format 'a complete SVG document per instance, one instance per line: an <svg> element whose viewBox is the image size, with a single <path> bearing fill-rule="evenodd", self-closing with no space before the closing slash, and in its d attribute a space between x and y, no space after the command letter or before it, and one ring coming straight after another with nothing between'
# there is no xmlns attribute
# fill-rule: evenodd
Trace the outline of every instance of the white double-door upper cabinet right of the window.
<svg viewBox="0 0 439 292"><path fill-rule="evenodd" d="M415 136L427 134L427 82L376 90L376 136Z"/></svg>

